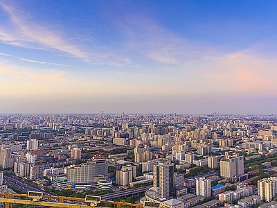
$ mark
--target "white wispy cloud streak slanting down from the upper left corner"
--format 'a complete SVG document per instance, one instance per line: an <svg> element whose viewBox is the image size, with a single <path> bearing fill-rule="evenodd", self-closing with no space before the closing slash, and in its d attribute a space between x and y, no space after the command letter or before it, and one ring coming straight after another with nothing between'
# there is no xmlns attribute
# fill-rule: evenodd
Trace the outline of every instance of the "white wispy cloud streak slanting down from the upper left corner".
<svg viewBox="0 0 277 208"><path fill-rule="evenodd" d="M87 53L79 49L78 46L66 42L62 35L28 21L17 8L3 2L0 2L0 6L9 15L11 22L9 26L1 26L0 39L3 42L17 46L28 46L30 43L35 43L69 53L84 60L89 58Z"/></svg>

